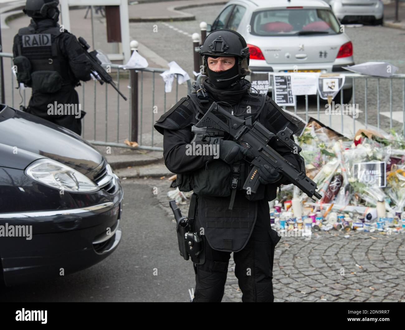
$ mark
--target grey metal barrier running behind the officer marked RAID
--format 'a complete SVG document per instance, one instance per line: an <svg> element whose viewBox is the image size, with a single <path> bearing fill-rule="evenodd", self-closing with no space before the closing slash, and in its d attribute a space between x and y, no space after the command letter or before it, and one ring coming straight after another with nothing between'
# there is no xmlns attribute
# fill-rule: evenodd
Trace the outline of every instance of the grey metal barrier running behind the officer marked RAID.
<svg viewBox="0 0 405 330"><path fill-rule="evenodd" d="M6 103L13 108L16 106L18 108L19 105L26 106L31 90L24 89L22 92L18 90L18 93L15 91L17 81L12 70L13 54L0 53L0 57L10 58L10 66L4 65L5 75L7 75L6 68L10 68L10 76L4 77ZM176 75L172 92L166 93L162 77L156 77L156 74L163 73L166 69L126 70L118 64L109 64L109 69L117 87L127 96L128 101L122 100L108 84L102 86L97 81L81 82L82 86L76 90L81 109L85 112L82 120L82 136L94 145L162 151L162 137L160 134L156 136L153 124L177 103L179 93L185 96L191 92L191 82L187 81L187 85L179 86ZM135 80L130 77L135 77ZM17 103L15 97L18 97L18 94L21 95L21 99ZM136 141L139 145L128 146L123 142L126 139Z"/></svg>

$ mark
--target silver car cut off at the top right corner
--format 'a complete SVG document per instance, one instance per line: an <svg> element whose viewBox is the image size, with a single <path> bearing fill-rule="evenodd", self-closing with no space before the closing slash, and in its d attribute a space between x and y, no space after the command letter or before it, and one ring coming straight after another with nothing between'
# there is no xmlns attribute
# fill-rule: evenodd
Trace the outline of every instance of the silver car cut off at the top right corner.
<svg viewBox="0 0 405 330"><path fill-rule="evenodd" d="M383 23L384 4L381 0L328 0L336 17L343 23Z"/></svg>

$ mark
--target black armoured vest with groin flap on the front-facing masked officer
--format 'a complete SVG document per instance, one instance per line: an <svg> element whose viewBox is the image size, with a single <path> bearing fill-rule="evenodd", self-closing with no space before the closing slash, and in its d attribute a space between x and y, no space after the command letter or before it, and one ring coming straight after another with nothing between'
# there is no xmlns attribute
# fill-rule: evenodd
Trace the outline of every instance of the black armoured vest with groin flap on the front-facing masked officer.
<svg viewBox="0 0 405 330"><path fill-rule="evenodd" d="M266 102L265 95L253 98L246 93L239 104L232 109L234 116L248 122L250 118L253 124L264 107L270 106L269 103L271 104L271 101ZM190 127L191 130L191 126L200 120L211 104L211 102L200 103L196 93L189 94L188 98L182 98L161 116L155 128L161 134L163 129L177 130ZM247 111L248 106L249 111ZM286 115L279 111L267 114L265 120L269 120L274 127L289 124ZM275 198L275 195L266 195L267 193L271 195L274 191L270 192L270 189L266 189L266 185L263 184L259 186L256 194L248 195L242 189L245 178L250 172L250 166L241 161L239 164L232 164L231 167L221 160L213 160L192 173L177 174L176 182L179 190L194 191L188 217L190 219L198 217L204 228L205 238L212 249L230 252L242 250L252 235L258 203ZM264 197L266 197L265 201L263 201ZM194 230L199 231L199 228Z"/></svg>

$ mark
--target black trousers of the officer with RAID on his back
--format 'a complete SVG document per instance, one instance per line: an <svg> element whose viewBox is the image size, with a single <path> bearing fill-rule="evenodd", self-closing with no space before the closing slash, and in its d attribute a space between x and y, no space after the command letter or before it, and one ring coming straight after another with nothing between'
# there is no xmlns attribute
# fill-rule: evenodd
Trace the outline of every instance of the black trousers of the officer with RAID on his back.
<svg viewBox="0 0 405 330"><path fill-rule="evenodd" d="M81 118L75 118L74 114L70 115L49 115L48 105L57 104L76 104L79 106L79 95L72 86L63 87L56 93L33 93L28 103L27 112L40 118L49 120L54 124L63 126L76 134L81 135L81 118L85 115L85 111L81 110Z"/></svg>

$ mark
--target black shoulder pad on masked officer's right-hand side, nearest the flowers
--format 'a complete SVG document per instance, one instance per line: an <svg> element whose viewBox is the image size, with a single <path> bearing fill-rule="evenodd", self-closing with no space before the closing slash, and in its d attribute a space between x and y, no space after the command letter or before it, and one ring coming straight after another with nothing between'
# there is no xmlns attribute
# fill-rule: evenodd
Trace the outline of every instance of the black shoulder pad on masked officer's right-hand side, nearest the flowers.
<svg viewBox="0 0 405 330"><path fill-rule="evenodd" d="M266 120L271 124L276 132L288 127L295 134L300 131L301 120L284 111L269 96L266 96L266 109L268 111Z"/></svg>

